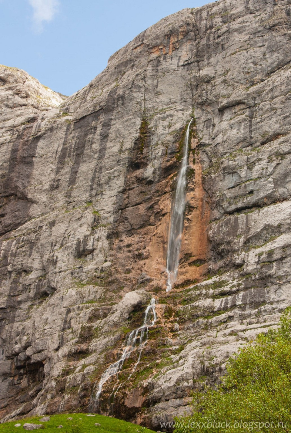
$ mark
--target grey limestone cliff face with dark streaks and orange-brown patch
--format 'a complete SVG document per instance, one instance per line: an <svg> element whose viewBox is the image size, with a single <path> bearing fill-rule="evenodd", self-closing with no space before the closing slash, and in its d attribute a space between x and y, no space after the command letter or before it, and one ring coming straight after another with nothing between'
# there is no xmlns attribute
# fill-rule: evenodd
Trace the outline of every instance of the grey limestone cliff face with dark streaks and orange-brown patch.
<svg viewBox="0 0 291 433"><path fill-rule="evenodd" d="M130 381L125 363L114 405L108 381L99 410L159 429L291 305L290 9L182 10L67 99L0 68L3 419L87 410L154 294L141 362ZM166 294L192 116L181 266Z"/></svg>

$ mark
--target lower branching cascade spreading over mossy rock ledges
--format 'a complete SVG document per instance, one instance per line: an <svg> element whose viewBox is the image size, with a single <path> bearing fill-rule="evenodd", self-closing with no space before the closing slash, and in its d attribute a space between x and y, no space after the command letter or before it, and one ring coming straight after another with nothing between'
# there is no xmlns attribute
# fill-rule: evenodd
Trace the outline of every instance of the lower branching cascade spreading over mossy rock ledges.
<svg viewBox="0 0 291 433"><path fill-rule="evenodd" d="M99 405L99 397L102 392L103 385L108 381L109 378L111 378L113 375L117 375L122 370L122 366L123 363L125 362L125 359L127 359L131 355L134 349L139 350L138 361L135 363L134 368L131 374L128 376L127 380L131 378L132 374L137 368L138 363L140 362L141 359L142 350L144 349L144 346L147 343L148 328L149 326L153 326L157 320L157 313L155 307L156 307L156 300L152 298L150 300L150 304L147 306L147 309L145 310L144 323L139 328L134 329L133 331L131 331L131 333L128 334L128 337L125 340L124 348L122 350L122 355L120 356L118 361L113 362L111 365L109 365L109 367L105 370L105 372L103 372L97 387L94 387L93 393L95 392L95 388L97 388L95 399L94 399L94 406L96 406L97 408ZM118 386L117 391L120 385Z"/></svg>

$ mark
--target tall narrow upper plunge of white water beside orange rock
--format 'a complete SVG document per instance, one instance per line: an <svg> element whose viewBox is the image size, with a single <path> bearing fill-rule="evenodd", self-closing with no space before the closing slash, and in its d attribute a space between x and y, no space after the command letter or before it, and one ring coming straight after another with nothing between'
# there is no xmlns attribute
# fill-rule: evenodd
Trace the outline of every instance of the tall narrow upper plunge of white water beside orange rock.
<svg viewBox="0 0 291 433"><path fill-rule="evenodd" d="M186 174L188 167L188 148L189 148L189 129L192 120L188 123L188 128L185 135L183 145L183 158L181 168L177 178L175 198L171 206L171 221L168 238L168 251L166 263L166 291L168 292L173 287L176 281L179 267L181 238L184 226L184 211L186 198Z"/></svg>

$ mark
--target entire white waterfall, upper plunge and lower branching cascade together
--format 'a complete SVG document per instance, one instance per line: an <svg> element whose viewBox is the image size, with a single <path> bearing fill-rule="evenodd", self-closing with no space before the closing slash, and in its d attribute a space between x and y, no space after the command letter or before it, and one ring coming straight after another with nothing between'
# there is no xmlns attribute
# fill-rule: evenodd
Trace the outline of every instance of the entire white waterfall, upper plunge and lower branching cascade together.
<svg viewBox="0 0 291 433"><path fill-rule="evenodd" d="M177 178L175 198L173 200L173 207L171 209L171 220L170 220L170 229L169 229L169 238L168 238L168 250L167 250L167 262L166 262L166 273L167 273L167 281L166 281L166 291L172 289L173 284L177 278L178 268L179 268L179 255L181 249L181 238L182 231L184 226L184 212L185 212L185 197L186 197L186 173L188 167L188 147L189 147L189 130L192 120L188 123L188 127L185 134L184 144L183 144L183 157L182 164L180 167L180 171ZM135 369L138 366L138 363L141 359L141 354L144 349L144 346L147 343L148 339L148 329L149 326L153 326L157 320L157 314L155 310L156 300L154 298L151 299L150 304L147 306L145 310L144 323L139 327L131 331L128 334L127 339L125 340L125 345L122 350L122 355L118 359L118 361L113 362L109 367L103 372L98 385L95 385L93 389L93 394L96 393L93 405L94 407L99 406L99 397L102 393L103 385L111 378L113 375L117 375L121 370L122 366L125 362L125 359L129 358L131 353L135 350L139 350L138 361L135 363L134 368L131 374L128 376L128 379L131 378ZM127 379L127 380L128 380ZM114 393L114 388L111 396L117 393L121 384L118 385L117 390Z"/></svg>

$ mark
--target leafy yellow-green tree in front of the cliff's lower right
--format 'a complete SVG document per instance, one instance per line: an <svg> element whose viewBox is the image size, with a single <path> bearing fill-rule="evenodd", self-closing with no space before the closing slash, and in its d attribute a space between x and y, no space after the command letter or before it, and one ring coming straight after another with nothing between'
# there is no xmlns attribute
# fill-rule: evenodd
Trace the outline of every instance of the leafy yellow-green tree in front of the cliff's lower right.
<svg viewBox="0 0 291 433"><path fill-rule="evenodd" d="M208 433L291 431L291 307L278 330L259 334L230 358L217 390L195 392L193 415L177 420L191 430Z"/></svg>

